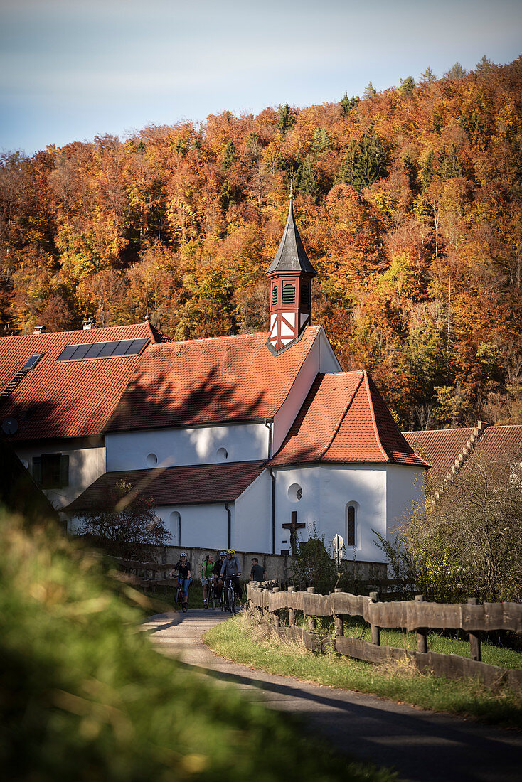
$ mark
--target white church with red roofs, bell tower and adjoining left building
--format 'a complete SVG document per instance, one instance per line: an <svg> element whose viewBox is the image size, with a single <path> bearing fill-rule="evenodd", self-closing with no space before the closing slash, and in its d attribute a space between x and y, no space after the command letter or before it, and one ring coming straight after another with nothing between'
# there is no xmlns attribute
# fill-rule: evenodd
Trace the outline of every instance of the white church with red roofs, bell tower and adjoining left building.
<svg viewBox="0 0 522 782"><path fill-rule="evenodd" d="M291 198L267 274L268 334L171 342L145 322L0 339L2 436L70 530L124 477L171 545L288 554L315 529L385 561L373 530L390 538L422 501L428 465L311 325Z"/></svg>

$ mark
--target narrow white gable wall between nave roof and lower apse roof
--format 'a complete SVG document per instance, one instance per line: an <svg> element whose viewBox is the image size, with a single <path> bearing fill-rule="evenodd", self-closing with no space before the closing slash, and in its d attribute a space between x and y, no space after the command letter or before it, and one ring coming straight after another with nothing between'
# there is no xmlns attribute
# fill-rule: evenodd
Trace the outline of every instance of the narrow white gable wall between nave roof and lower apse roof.
<svg viewBox="0 0 522 782"><path fill-rule="evenodd" d="M318 372L340 371L339 361L337 361L332 346L326 339L324 329L321 328L314 344L308 351L308 356L297 373L297 378L295 378L292 388L286 395L286 400L274 416L272 456L281 447L283 439L285 439L290 426L295 421L297 413L301 410Z"/></svg>

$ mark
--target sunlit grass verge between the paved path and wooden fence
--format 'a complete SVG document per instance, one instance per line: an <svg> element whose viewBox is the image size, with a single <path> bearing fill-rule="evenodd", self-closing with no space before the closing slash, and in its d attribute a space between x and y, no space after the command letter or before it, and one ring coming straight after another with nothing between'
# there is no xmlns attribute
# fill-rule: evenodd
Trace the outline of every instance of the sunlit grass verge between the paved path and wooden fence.
<svg viewBox="0 0 522 782"><path fill-rule="evenodd" d="M267 638L250 612L221 622L206 633L205 641L218 655L269 673L522 728L522 699L507 688L493 693L477 680L420 674L406 663L377 666L335 654L312 654L301 644Z"/></svg>

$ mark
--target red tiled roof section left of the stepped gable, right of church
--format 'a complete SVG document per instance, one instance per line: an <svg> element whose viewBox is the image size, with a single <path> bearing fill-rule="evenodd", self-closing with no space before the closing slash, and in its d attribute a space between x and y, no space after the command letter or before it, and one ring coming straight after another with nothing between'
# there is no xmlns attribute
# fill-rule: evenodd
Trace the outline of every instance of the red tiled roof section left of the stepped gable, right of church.
<svg viewBox="0 0 522 782"><path fill-rule="evenodd" d="M473 436L473 427L428 429L420 432L402 432L402 434L406 442L430 463L431 469L427 479L434 490L437 490L455 465L455 459Z"/></svg>

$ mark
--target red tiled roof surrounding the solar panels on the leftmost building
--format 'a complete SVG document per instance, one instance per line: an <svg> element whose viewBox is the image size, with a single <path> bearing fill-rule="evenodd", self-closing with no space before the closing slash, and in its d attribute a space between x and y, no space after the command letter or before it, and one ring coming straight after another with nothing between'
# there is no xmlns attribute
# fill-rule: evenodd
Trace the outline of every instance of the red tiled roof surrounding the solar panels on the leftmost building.
<svg viewBox="0 0 522 782"><path fill-rule="evenodd" d="M67 345L139 338L160 339L146 323L0 339L0 392L31 355L44 353L9 396L0 399L0 419L10 417L18 422L18 431L9 439L91 436L101 432L140 357L58 364L56 358ZM149 346L145 353L147 350Z"/></svg>

